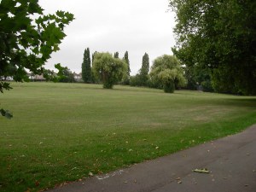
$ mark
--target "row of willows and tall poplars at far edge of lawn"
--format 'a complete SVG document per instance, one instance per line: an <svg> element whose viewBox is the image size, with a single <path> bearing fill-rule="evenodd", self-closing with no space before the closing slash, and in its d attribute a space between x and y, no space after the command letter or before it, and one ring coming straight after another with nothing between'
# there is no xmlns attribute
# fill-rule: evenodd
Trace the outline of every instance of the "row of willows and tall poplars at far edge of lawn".
<svg viewBox="0 0 256 192"><path fill-rule="evenodd" d="M131 86L148 86L163 89L165 92L173 92L175 89L185 86L183 67L172 55L162 55L156 58L149 71L149 56L143 55L142 67L135 76L130 76L130 61L128 51L122 59L119 52L113 55L109 53L95 52L90 60L90 49L84 50L82 63L82 77L84 83L102 82L103 88L112 89L113 84L130 84ZM149 73L150 72L150 73Z"/></svg>

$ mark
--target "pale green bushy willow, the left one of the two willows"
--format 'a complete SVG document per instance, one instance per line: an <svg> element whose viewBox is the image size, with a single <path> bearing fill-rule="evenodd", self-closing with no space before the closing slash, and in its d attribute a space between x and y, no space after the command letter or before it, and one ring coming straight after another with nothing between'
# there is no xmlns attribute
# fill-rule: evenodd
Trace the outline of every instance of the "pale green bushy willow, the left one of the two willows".
<svg viewBox="0 0 256 192"><path fill-rule="evenodd" d="M125 61L113 58L109 53L96 53L92 66L96 79L102 81L106 89L112 89L113 84L121 81L127 71Z"/></svg>

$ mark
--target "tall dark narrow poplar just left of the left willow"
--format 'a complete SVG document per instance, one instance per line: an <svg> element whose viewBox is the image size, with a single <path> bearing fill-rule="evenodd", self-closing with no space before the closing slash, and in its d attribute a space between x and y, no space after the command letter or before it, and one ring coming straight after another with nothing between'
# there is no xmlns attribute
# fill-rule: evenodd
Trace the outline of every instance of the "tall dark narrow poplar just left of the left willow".
<svg viewBox="0 0 256 192"><path fill-rule="evenodd" d="M90 49L84 49L84 61L82 63L82 79L84 83L91 83Z"/></svg>

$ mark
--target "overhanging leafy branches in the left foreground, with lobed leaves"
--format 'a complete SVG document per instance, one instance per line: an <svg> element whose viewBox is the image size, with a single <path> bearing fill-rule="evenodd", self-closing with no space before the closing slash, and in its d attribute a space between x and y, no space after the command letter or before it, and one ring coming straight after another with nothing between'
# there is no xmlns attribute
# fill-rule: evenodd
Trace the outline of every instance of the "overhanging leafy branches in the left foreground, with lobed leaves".
<svg viewBox="0 0 256 192"><path fill-rule="evenodd" d="M45 62L66 36L64 26L73 19L63 11L44 15L38 0L0 1L0 77L24 81L28 80L26 71L44 73ZM0 91L9 89L9 84L0 80Z"/></svg>

